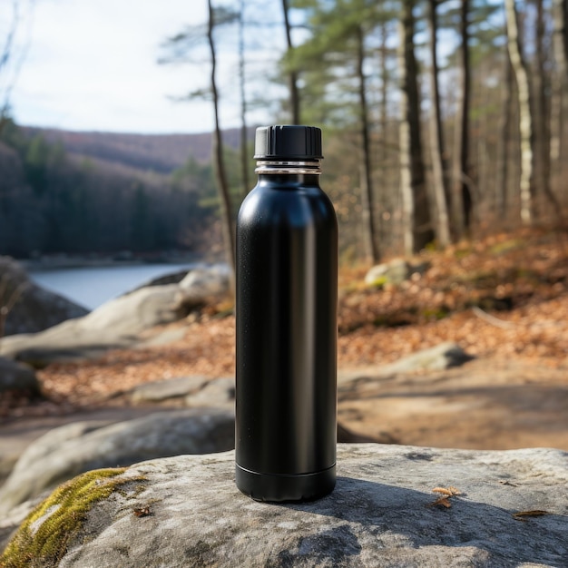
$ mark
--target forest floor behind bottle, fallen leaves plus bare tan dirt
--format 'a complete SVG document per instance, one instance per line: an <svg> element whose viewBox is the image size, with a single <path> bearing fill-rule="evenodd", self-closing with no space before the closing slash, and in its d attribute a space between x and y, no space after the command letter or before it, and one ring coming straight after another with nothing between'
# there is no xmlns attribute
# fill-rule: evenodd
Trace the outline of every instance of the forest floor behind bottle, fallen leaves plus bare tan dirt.
<svg viewBox="0 0 568 568"><path fill-rule="evenodd" d="M340 392L339 419L359 434L381 439L387 432L393 441L417 446L568 450L568 236L524 230L427 250L410 261L427 262L429 268L398 286L369 288L364 283L368 267L341 270L340 371L379 369L444 341L457 343L475 360L460 370L419 373L386 381L384 387L375 383L373 396L368 398L367 388L362 395L367 399L357 407L353 397L342 400ZM168 330L178 339L42 369L38 377L45 399L6 398L0 424L77 416L94 408L122 407L125 416L132 415L134 409L121 395L141 383L234 375L235 328L227 304L203 308L161 331ZM518 393L523 393L522 403ZM377 417L377 397L391 401L382 418ZM474 406L471 419L456 426L455 416ZM525 411L546 416L534 427L536 418L526 415L526 436L519 437L511 428L523 425L507 416L525 416ZM500 421L498 432L497 426L488 426ZM508 434L503 425L509 425Z"/></svg>

